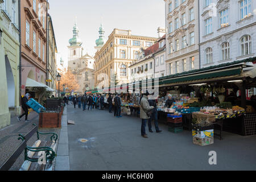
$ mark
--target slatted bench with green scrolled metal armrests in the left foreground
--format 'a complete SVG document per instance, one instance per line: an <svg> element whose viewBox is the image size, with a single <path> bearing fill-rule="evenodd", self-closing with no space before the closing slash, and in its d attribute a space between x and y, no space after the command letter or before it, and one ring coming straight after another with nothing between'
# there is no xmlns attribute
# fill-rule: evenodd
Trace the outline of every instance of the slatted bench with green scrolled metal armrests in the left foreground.
<svg viewBox="0 0 256 182"><path fill-rule="evenodd" d="M19 169L20 171L52 171L52 163L56 156L56 145L58 135L56 133L40 133L36 124L33 124L33 129L28 131L26 135L19 134L18 140L22 143L16 148L13 154L0 167L0 171L7 171L13 166L20 154L24 151L24 163ZM38 140L32 147L27 146L27 141L37 134ZM52 134L50 141L42 141L39 135ZM37 157L39 156L39 158Z"/></svg>

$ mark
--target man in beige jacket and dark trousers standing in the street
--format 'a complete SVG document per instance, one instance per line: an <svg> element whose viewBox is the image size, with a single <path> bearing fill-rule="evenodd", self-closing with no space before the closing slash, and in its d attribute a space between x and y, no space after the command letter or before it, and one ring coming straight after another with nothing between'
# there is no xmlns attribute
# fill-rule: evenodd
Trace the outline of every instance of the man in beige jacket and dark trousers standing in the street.
<svg viewBox="0 0 256 182"><path fill-rule="evenodd" d="M144 137L144 138L148 138L147 134L146 134L146 129L145 129L146 123L147 123L148 119L150 118L150 114L148 114L148 112L154 108L154 106L150 106L148 104L148 101L147 101L148 95L149 95L148 92L143 93L142 94L142 99L141 99L141 102L140 102L140 104L141 104L140 118L142 119L142 122L141 122L141 136Z"/></svg>

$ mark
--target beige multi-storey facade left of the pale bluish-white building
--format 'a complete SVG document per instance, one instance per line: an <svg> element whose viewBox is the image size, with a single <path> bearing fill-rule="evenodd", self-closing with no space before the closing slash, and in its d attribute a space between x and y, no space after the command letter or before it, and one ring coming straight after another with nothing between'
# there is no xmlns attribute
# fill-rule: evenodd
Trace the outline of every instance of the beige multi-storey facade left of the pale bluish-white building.
<svg viewBox="0 0 256 182"><path fill-rule="evenodd" d="M199 69L199 1L164 1L167 29L166 75Z"/></svg>

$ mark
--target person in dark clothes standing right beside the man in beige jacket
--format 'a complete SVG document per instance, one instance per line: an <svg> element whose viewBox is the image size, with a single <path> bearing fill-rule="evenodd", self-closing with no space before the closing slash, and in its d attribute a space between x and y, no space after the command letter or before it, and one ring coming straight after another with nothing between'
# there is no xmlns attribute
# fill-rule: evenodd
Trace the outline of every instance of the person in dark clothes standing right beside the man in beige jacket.
<svg viewBox="0 0 256 182"><path fill-rule="evenodd" d="M154 106L154 109L152 109L152 114L150 115L150 118L148 119L148 131L150 133L153 133L152 131L152 126L151 126L151 121L154 119L154 122L155 122L155 131L156 133L159 133L161 132L162 130L159 130L159 127L158 127L158 110L156 109L156 102L157 102L157 98L154 98L154 93L149 96L148 98L148 104L150 106Z"/></svg>

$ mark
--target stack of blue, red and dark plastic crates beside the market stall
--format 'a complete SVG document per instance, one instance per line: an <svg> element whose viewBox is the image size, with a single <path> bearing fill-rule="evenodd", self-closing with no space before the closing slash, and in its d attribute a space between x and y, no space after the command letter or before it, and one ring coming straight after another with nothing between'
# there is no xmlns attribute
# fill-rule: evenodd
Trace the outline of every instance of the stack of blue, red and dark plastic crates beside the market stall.
<svg viewBox="0 0 256 182"><path fill-rule="evenodd" d="M168 130L173 133L183 131L182 115L167 114Z"/></svg>

